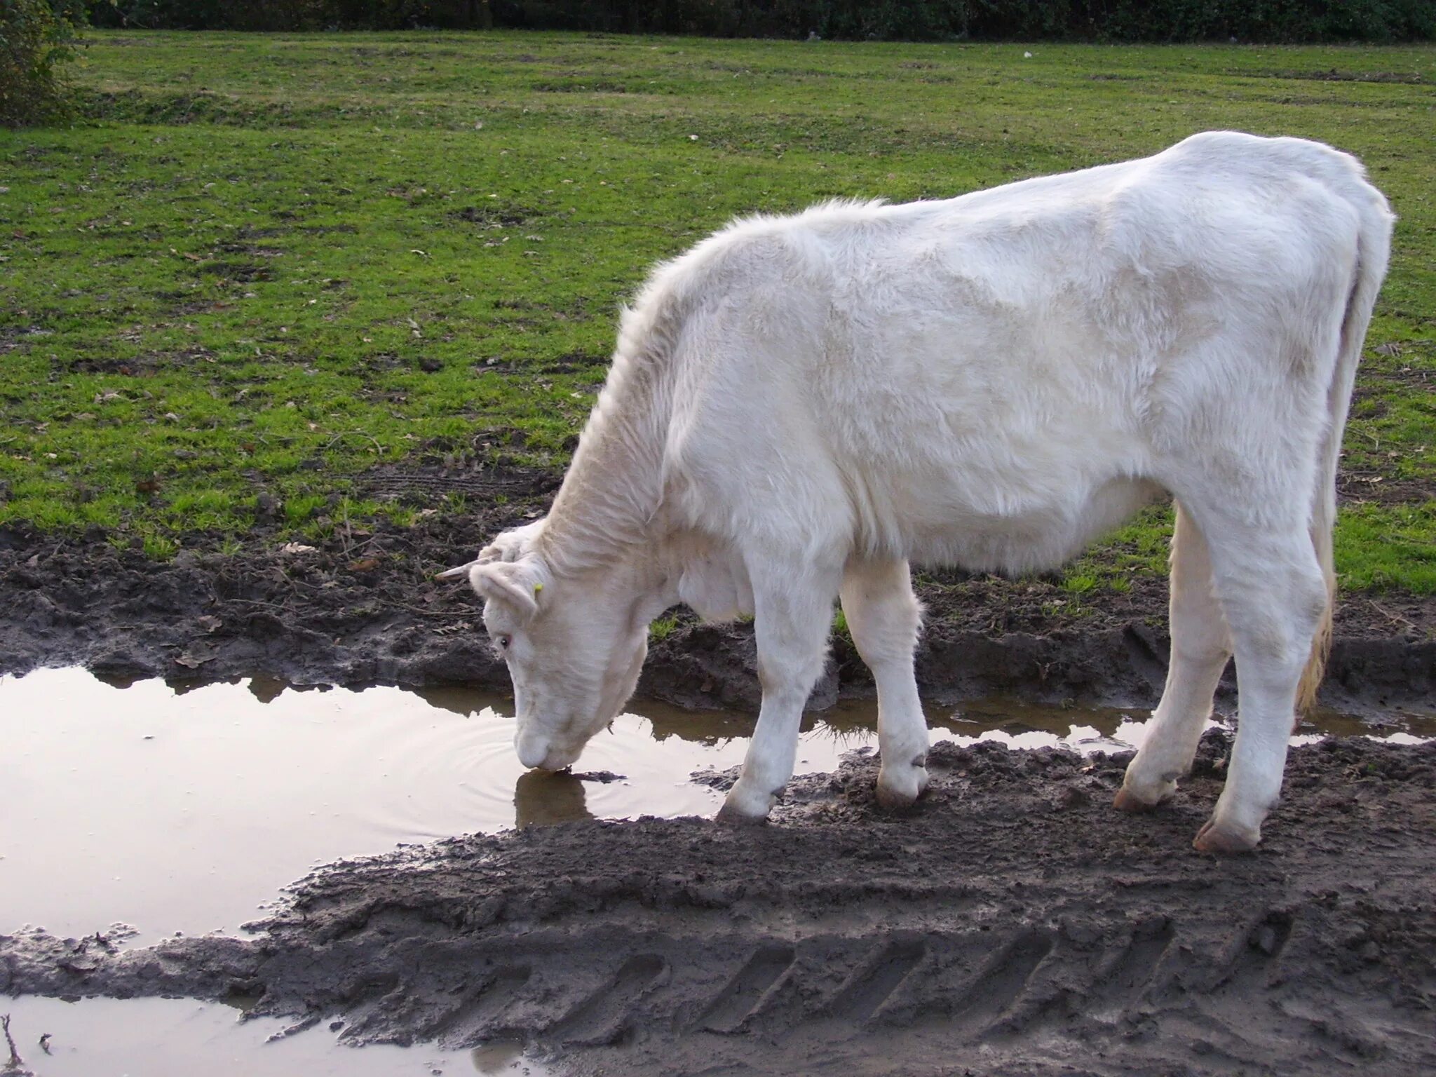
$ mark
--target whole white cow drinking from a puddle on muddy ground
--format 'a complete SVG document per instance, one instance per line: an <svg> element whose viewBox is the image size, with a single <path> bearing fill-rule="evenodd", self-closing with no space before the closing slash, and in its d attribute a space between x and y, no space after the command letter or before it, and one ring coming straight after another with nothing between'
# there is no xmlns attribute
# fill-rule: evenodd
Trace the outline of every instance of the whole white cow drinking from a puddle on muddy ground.
<svg viewBox="0 0 1436 1077"><path fill-rule="evenodd" d="M1321 675L1391 221L1344 154L1212 132L949 201L751 217L659 266L553 510L444 573L485 599L520 760L577 758L662 610L751 613L763 707L719 819L764 819L841 596L877 682L877 796L908 804L928 781L909 561L1051 569L1169 491L1172 661L1116 803L1173 794L1235 651L1241 724L1196 846L1251 849Z"/></svg>

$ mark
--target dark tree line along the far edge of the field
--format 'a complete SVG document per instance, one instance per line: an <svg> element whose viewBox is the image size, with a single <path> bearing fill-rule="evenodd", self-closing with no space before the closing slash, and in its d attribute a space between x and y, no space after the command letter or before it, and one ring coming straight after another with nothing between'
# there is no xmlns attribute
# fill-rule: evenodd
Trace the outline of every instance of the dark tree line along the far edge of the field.
<svg viewBox="0 0 1436 1077"><path fill-rule="evenodd" d="M491 26L856 40L1409 42L1436 0L90 0L98 26Z"/></svg>

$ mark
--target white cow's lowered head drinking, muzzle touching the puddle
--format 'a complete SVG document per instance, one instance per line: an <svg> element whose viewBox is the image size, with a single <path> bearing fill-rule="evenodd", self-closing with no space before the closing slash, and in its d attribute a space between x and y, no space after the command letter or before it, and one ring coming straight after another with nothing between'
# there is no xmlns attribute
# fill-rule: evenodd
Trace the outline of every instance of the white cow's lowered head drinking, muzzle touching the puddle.
<svg viewBox="0 0 1436 1077"><path fill-rule="evenodd" d="M467 572L514 682L518 760L561 770L633 694L661 606L623 564L554 573L537 541L544 523L498 536Z"/></svg>

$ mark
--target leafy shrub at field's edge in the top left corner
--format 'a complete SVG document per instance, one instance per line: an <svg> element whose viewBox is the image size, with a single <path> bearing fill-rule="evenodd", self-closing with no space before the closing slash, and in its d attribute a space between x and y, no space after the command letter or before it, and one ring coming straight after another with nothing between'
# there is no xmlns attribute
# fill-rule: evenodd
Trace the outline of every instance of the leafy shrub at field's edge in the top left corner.
<svg viewBox="0 0 1436 1077"><path fill-rule="evenodd" d="M83 24L82 0L0 0L0 125L69 116L63 65L75 59Z"/></svg>

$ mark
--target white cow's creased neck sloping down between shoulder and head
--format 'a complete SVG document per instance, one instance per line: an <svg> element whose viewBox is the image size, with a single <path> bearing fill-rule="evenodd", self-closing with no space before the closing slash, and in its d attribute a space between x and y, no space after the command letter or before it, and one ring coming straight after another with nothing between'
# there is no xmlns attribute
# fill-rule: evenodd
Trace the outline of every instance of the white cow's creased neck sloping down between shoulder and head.
<svg viewBox="0 0 1436 1077"><path fill-rule="evenodd" d="M643 355L625 359L626 343L620 339L543 531L544 559L561 574L615 566L661 541L655 528L669 421L666 363Z"/></svg>

